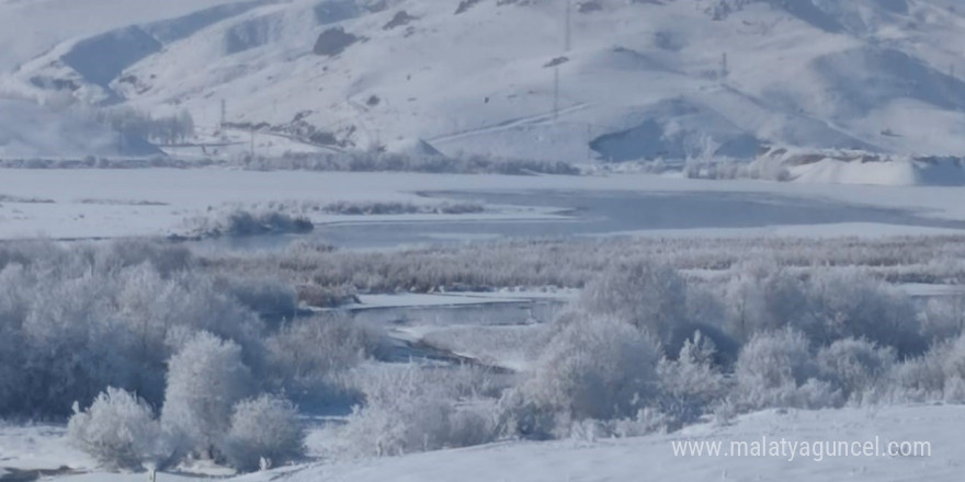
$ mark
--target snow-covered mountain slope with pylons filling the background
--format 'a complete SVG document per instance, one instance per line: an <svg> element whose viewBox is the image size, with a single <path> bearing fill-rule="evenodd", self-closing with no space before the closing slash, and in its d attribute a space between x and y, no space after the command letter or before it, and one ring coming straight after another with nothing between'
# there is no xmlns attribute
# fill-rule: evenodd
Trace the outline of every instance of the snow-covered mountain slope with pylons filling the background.
<svg viewBox="0 0 965 482"><path fill-rule="evenodd" d="M84 21L59 31L43 5L60 3ZM186 108L209 128L224 100L238 127L445 153L965 154L952 0L574 0L568 35L563 0L117 3L0 3L31 25L13 32L55 32L5 30L20 57L0 91Z"/></svg>

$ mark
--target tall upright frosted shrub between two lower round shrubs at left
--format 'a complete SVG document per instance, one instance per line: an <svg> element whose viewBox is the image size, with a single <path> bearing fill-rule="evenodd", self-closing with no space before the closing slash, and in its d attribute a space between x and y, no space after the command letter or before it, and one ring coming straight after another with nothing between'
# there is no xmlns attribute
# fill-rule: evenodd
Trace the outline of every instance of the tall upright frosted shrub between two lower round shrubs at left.
<svg viewBox="0 0 965 482"><path fill-rule="evenodd" d="M227 434L231 411L252 391L241 347L211 333L194 335L168 364L161 423L186 451L213 456Z"/></svg>

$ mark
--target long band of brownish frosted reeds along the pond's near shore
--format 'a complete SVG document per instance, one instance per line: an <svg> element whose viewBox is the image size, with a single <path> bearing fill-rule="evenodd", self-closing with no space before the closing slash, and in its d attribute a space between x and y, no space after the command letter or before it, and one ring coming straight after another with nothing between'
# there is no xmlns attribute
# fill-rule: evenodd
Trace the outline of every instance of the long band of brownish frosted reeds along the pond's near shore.
<svg viewBox="0 0 965 482"><path fill-rule="evenodd" d="M661 263L688 273L691 279L712 276L712 284L746 272L746 265L759 260L771 263L759 276L783 269L787 276L804 280L813 271L862 266L874 279L888 283L946 283L955 276L965 278L963 238L888 238L883 240L848 239L807 240L794 238L747 239L597 239L597 240L500 240L465 244L432 245L400 251L332 250L297 243L290 250L237 252L212 255L226 271L275 275L282 269L297 283L320 287L351 286L359 292L398 292L433 290L486 290L504 287L547 286L581 288L610 271L615 260L625 264ZM935 253L941 253L936 260ZM561 262L565 261L565 262ZM826 267L831 266L831 267ZM728 269L730 268L730 269ZM305 277L308 279L304 279ZM720 290L723 291L723 290ZM730 305L730 297L720 300ZM775 300L784 299L775 297ZM786 299L785 299L786 301ZM688 299L688 303L692 303ZM780 308L781 305L774 305ZM689 315L704 310L688 309ZM728 310L729 311L729 310ZM793 311L788 308L787 311ZM730 319L728 317L728 319ZM733 320L733 319L731 319ZM772 321L776 329L781 317ZM692 320L713 324L713 320ZM738 324L738 323L735 323ZM753 328L753 326L750 326ZM690 334L693 330L690 330ZM733 335L746 341L735 330ZM722 346L718 346L722 348ZM677 347L679 349L679 346ZM670 351L676 353L676 351Z"/></svg>

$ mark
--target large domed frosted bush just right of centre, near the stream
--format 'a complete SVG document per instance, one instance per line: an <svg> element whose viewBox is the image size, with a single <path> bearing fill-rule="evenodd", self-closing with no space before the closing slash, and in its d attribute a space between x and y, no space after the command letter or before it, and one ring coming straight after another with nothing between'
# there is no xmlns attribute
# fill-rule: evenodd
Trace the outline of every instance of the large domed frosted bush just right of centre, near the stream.
<svg viewBox="0 0 965 482"><path fill-rule="evenodd" d="M504 429L544 438L572 421L632 417L659 395L658 359L656 343L633 324L595 315L570 320L507 395Z"/></svg>

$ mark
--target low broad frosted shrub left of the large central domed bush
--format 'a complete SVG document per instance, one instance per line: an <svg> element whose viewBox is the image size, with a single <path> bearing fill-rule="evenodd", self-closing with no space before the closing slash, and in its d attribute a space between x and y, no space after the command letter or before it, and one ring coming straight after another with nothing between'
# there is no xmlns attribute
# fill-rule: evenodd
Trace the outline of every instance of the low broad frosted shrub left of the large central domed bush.
<svg viewBox="0 0 965 482"><path fill-rule="evenodd" d="M476 369L381 367L357 377L365 404L340 434L343 457L467 447L497 436L491 382Z"/></svg>

